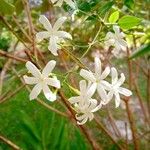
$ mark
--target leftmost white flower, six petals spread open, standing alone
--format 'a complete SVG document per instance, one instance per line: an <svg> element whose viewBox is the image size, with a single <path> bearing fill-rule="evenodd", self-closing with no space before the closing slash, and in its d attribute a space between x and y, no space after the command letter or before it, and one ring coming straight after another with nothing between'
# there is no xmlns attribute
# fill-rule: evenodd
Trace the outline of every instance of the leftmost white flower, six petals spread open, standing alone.
<svg viewBox="0 0 150 150"><path fill-rule="evenodd" d="M55 65L56 61L49 61L41 73L33 63L31 63L30 61L26 63L26 67L29 70L29 72L33 75L33 77L28 77L24 75L23 78L25 80L25 83L36 84L30 93L30 100L36 99L41 91L44 92L44 95L48 100L56 100L56 94L54 94L48 86L50 85L55 88L60 88L60 81L56 77L49 77Z"/></svg>

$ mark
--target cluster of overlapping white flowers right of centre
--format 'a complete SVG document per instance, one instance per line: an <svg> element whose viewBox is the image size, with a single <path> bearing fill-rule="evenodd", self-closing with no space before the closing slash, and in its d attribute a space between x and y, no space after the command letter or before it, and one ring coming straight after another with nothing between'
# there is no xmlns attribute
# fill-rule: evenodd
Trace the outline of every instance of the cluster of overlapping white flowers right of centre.
<svg viewBox="0 0 150 150"><path fill-rule="evenodd" d="M110 73L111 83L105 80ZM102 71L99 58L95 58L94 72L81 69L80 75L88 81L88 85L86 85L85 80L80 81L79 96L69 99L69 102L76 108L76 119L79 125L84 124L88 119L91 121L94 118L93 112L98 111L102 105L106 105L113 97L115 97L115 104L118 107L120 105L120 94L125 96L132 95L130 90L120 87L125 81L124 74L121 73L121 77L118 79L118 72L114 67L106 67ZM101 101L92 98L96 91Z"/></svg>

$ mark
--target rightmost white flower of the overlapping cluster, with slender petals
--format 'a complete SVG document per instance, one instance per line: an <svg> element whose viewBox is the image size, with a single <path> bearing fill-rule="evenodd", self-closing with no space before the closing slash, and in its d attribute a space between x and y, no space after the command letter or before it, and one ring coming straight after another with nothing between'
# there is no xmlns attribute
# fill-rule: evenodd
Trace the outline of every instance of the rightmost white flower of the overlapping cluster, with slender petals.
<svg viewBox="0 0 150 150"><path fill-rule="evenodd" d="M116 108L120 105L120 95L131 96L132 92L126 88L120 87L124 81L125 76L123 73L120 74L120 78L118 79L118 72L115 68L111 68L111 77L112 77L112 84L107 85L107 90L109 90L108 98L109 101L115 96L115 104Z"/></svg>

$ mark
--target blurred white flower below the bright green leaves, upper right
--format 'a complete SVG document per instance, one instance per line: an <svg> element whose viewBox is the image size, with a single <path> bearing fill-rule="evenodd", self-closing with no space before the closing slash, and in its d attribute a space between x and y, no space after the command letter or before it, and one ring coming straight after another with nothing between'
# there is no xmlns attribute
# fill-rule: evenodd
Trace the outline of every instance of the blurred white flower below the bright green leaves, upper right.
<svg viewBox="0 0 150 150"><path fill-rule="evenodd" d="M114 46L113 53L117 54L117 53L120 52L120 50L125 51L126 47L128 45L127 45L127 42L124 40L125 35L124 35L123 32L120 32L119 27L114 25L113 30L114 30L115 33L108 32L106 34L105 45L107 47Z"/></svg>

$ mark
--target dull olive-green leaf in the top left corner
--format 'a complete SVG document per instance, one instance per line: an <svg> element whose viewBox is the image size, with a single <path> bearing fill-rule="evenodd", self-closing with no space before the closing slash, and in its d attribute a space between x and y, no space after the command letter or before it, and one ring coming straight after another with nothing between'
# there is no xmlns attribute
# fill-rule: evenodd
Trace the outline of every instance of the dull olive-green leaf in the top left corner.
<svg viewBox="0 0 150 150"><path fill-rule="evenodd" d="M0 13L3 15L12 15L15 11L14 5L6 2L5 0L0 0Z"/></svg>

